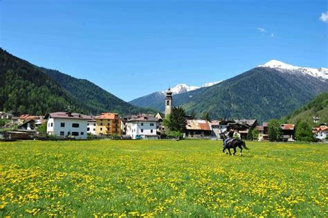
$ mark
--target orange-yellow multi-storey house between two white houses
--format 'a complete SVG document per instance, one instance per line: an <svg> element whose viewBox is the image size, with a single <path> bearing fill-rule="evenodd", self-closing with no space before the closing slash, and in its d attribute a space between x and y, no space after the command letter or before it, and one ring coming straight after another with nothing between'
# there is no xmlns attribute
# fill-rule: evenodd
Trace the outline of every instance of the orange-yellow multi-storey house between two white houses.
<svg viewBox="0 0 328 218"><path fill-rule="evenodd" d="M95 134L98 136L122 134L121 122L118 113L102 113L95 118Z"/></svg>

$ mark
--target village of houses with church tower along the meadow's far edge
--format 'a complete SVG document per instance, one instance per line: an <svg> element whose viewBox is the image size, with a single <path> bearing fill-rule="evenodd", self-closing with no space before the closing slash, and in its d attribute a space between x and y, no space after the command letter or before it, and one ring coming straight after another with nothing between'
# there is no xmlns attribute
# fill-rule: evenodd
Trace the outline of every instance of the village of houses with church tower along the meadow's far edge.
<svg viewBox="0 0 328 218"><path fill-rule="evenodd" d="M165 114L138 114L120 116L118 113L104 112L98 116L90 116L71 111L57 111L45 116L23 114L19 117L11 113L0 112L1 120L8 120L2 129L16 126L17 129L0 131L0 140L18 139L163 139L167 138L167 129L163 125L165 117L172 111L172 92L167 91L165 98ZM268 122L261 125L256 119L205 120L186 116L183 138L221 140L220 134L228 134L230 129L235 131L236 138L248 139L250 131L256 129L255 140L268 140ZM320 122L320 117L314 116L313 123ZM44 134L40 127L46 127ZM295 141L295 124L280 125L282 141ZM313 127L313 136L325 140L328 136L327 123Z"/></svg>

